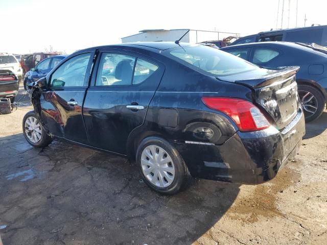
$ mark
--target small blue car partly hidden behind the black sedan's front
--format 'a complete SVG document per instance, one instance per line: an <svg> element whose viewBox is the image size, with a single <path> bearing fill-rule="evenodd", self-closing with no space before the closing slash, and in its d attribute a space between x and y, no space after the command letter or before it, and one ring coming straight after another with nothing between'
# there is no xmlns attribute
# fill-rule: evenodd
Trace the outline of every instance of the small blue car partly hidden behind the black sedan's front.
<svg viewBox="0 0 327 245"><path fill-rule="evenodd" d="M26 72L24 77L24 88L28 89L28 85L36 82L40 78L44 78L56 65L60 63L66 56L58 55L46 58L40 61L34 68Z"/></svg>

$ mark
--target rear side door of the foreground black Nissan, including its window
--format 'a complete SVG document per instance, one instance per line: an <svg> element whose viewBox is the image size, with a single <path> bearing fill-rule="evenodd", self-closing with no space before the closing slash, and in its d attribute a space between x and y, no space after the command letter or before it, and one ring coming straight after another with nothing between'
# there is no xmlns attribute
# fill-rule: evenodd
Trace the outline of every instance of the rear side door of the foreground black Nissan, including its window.
<svg viewBox="0 0 327 245"><path fill-rule="evenodd" d="M100 50L83 106L89 144L126 154L127 138L143 124L164 70L146 56Z"/></svg>

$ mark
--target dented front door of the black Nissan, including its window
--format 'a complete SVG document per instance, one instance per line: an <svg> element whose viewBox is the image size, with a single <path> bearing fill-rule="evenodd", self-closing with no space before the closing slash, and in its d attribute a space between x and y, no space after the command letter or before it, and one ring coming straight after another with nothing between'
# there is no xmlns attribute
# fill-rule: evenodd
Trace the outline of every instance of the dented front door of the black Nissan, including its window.
<svg viewBox="0 0 327 245"><path fill-rule="evenodd" d="M82 106L94 52L78 53L47 76L48 89L41 101L42 119L58 137L87 144Z"/></svg>

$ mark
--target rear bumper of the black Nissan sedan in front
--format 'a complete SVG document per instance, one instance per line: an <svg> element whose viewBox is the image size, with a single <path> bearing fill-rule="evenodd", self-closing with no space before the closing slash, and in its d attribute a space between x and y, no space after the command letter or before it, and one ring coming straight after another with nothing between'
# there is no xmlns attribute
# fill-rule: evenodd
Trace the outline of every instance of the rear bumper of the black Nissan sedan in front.
<svg viewBox="0 0 327 245"><path fill-rule="evenodd" d="M260 184L274 178L294 156L305 135L305 118L299 109L293 121L279 132L274 127L237 132L222 145L176 143L193 177L240 184Z"/></svg>

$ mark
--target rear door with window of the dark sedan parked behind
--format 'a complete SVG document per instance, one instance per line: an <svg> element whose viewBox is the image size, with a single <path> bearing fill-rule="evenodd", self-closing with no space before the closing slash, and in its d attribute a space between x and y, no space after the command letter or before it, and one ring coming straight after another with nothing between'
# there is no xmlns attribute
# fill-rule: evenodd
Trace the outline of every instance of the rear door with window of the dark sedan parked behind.
<svg viewBox="0 0 327 245"><path fill-rule="evenodd" d="M276 48L272 47L253 47L250 62L264 67L276 68L283 66L282 63L278 62L283 53Z"/></svg>

